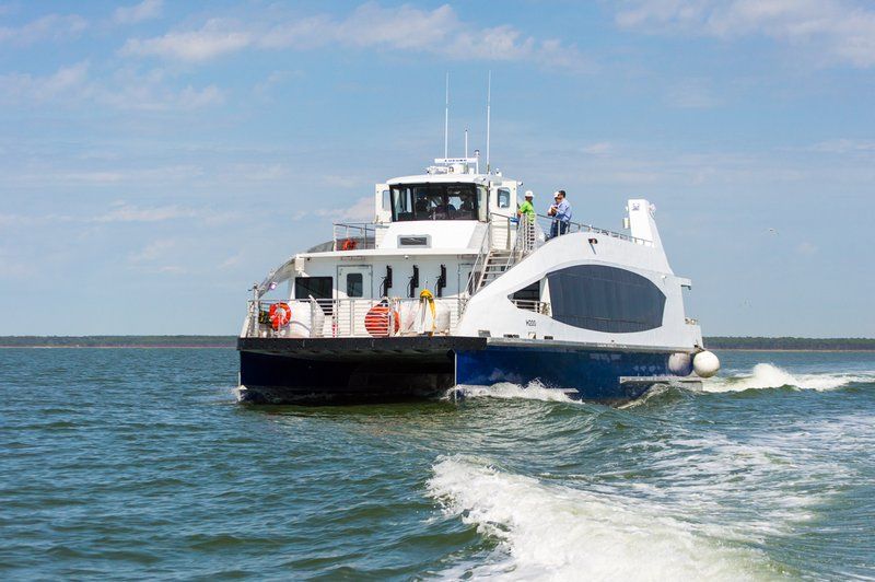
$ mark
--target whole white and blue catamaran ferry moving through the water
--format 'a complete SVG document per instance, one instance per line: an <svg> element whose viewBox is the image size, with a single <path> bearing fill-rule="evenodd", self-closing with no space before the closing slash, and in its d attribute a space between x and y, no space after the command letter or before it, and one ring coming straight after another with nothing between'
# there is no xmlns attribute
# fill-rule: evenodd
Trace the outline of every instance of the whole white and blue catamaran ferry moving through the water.
<svg viewBox="0 0 875 582"><path fill-rule="evenodd" d="M648 200L628 201L627 232L568 221L551 236L555 218L516 216L522 184L481 172L478 152L377 184L372 222L334 224L253 287L241 400L388 401L511 382L617 404L718 372Z"/></svg>

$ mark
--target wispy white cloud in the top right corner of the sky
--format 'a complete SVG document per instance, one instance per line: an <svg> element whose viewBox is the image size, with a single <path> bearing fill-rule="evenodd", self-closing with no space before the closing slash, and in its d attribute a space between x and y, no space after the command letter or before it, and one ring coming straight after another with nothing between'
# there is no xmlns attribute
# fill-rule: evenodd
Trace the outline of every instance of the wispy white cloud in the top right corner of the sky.
<svg viewBox="0 0 875 582"><path fill-rule="evenodd" d="M854 67L875 66L875 11L850 0L632 0L620 26L732 38L765 35Z"/></svg>

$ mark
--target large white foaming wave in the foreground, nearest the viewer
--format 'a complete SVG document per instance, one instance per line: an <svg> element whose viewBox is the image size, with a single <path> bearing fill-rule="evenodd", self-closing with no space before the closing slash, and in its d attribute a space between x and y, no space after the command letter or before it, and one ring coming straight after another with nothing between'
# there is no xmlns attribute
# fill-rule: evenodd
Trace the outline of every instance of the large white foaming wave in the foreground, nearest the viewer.
<svg viewBox="0 0 875 582"><path fill-rule="evenodd" d="M761 555L705 537L654 503L548 486L459 456L440 458L433 472L430 494L500 540L492 563L450 577L724 580L765 571Z"/></svg>

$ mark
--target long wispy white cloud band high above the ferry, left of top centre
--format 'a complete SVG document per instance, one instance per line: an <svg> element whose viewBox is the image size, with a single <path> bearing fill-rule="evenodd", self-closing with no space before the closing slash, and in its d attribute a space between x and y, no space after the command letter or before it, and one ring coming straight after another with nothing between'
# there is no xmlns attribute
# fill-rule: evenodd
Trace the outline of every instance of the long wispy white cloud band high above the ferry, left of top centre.
<svg viewBox="0 0 875 582"><path fill-rule="evenodd" d="M328 14L253 23L211 19L194 31L172 31L153 38L131 38L121 54L201 62L243 49L318 47L418 51L464 60L533 61L545 67L588 70L592 63L574 46L556 38L537 39L510 25L478 28L462 21L452 7L382 8L369 2L346 19Z"/></svg>

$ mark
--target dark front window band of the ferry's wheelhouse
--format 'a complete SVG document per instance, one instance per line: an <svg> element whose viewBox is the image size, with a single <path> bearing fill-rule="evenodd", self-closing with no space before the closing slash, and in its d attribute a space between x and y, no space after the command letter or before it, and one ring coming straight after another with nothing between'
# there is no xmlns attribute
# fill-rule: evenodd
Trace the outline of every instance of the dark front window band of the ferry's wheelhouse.
<svg viewBox="0 0 875 582"><path fill-rule="evenodd" d="M392 220L477 220L474 184L392 186Z"/></svg>

